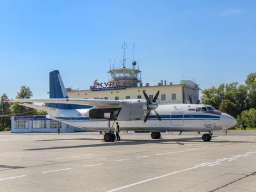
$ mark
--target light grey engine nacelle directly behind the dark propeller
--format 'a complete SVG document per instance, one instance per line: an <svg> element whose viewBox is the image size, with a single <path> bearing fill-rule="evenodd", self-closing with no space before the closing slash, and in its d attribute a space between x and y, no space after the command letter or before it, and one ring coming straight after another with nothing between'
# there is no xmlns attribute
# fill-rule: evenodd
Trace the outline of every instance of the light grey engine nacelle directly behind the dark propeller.
<svg viewBox="0 0 256 192"><path fill-rule="evenodd" d="M122 100L122 110L118 114L117 120L139 120L145 118L147 111L147 100Z"/></svg>

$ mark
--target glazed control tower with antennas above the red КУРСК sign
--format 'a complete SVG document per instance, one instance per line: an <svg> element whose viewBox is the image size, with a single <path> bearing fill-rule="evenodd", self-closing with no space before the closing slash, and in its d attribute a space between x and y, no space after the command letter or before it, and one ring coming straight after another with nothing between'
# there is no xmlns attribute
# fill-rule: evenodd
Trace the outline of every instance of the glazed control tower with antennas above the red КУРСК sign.
<svg viewBox="0 0 256 192"><path fill-rule="evenodd" d="M113 68L112 70L109 70L109 74L111 75L111 79L109 79L109 83L113 82L113 84L116 82L120 82L120 81L126 81L125 84L126 87L138 87L138 84L140 84L140 86L142 86L142 82L141 82L141 77L138 77L138 75L140 74L141 70L139 68L135 68L135 66L137 65L136 61L132 61L132 66L133 68L126 68L125 67L125 49L127 48L127 45L123 45L123 49L124 49L124 58L122 60L122 68ZM109 86L115 86L114 85L109 85Z"/></svg>

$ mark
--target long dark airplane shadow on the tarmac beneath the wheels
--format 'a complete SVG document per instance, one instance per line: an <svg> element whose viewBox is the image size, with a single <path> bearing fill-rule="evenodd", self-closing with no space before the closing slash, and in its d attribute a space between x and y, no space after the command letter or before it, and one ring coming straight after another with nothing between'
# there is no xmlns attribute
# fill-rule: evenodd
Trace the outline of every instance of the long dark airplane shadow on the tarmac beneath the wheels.
<svg viewBox="0 0 256 192"><path fill-rule="evenodd" d="M218 136L212 136L210 142L205 142L202 140L202 137L194 138L175 138L175 139L160 139L160 140L121 140L113 143L97 143L97 144L88 144L88 145L74 145L74 146L62 146L62 147L46 147L46 148L30 148L24 150L56 150L63 148L88 148L88 147L109 147L109 146L122 146L122 145L143 145L143 144L164 144L164 145L186 145L186 143L191 142L201 142L202 143L255 143L253 141L228 141L228 140L214 140ZM57 140L36 140L36 141L67 141L67 140L98 140L102 141L99 138L74 138L74 139L57 139ZM169 143L172 142L172 143Z"/></svg>

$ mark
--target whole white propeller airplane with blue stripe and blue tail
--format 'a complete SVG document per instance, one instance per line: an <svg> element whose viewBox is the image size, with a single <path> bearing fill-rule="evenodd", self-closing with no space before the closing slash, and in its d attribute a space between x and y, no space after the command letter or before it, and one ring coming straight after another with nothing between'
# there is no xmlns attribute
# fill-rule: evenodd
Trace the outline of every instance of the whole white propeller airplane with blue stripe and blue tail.
<svg viewBox="0 0 256 192"><path fill-rule="evenodd" d="M145 88L146 89L146 88ZM105 131L106 142L115 141L113 125L118 121L121 131L152 132L152 139L161 138L161 132L209 132L202 140L211 141L212 131L234 127L237 121L227 113L204 104L156 104L143 91L145 99L104 100L69 99L58 70L50 72L50 99L6 99L21 106L47 111L47 118L74 127ZM190 102L191 102L191 98ZM49 107L31 104L50 103ZM113 122L113 125L111 125Z"/></svg>

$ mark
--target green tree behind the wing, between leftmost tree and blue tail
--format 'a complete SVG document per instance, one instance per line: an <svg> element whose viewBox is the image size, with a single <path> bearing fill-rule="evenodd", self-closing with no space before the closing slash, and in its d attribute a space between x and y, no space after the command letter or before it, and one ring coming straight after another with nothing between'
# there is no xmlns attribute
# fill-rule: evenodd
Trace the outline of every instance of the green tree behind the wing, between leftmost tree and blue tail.
<svg viewBox="0 0 256 192"><path fill-rule="evenodd" d="M30 99L33 97L33 93L30 88L26 85L20 86L20 91L17 92L16 99ZM17 103L12 103L11 111L15 115L35 115L36 109L27 108L25 106L20 106Z"/></svg>

